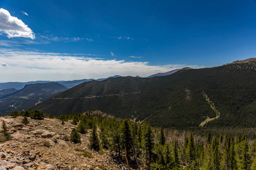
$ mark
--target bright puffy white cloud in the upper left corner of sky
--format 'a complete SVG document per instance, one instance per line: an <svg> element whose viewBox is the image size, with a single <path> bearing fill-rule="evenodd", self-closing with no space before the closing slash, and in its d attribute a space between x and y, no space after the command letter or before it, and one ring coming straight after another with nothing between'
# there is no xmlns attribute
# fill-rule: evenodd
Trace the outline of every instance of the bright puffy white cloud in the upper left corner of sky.
<svg viewBox="0 0 256 170"><path fill-rule="evenodd" d="M0 8L0 31L6 33L9 39L12 37L35 39L34 32L22 20L11 16L10 12L3 8Z"/></svg>

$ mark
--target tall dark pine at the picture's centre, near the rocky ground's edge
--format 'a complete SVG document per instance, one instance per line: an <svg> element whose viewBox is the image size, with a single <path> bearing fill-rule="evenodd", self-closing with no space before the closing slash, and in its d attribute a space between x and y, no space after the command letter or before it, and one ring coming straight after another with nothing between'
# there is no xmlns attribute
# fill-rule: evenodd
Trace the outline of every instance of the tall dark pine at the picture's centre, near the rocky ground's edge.
<svg viewBox="0 0 256 170"><path fill-rule="evenodd" d="M127 159L130 160L131 154L131 145L133 143L133 139L131 137L131 130L130 125L127 119L122 122L121 126L121 140L122 140L122 147L126 149L127 152Z"/></svg>

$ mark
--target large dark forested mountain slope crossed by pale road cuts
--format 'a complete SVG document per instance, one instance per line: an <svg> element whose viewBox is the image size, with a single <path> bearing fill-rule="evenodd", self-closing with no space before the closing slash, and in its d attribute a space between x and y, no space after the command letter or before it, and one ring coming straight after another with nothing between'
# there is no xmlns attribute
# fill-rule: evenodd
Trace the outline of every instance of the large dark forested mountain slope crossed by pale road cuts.
<svg viewBox="0 0 256 170"><path fill-rule="evenodd" d="M227 65L183 69L153 78L119 77L85 82L36 105L47 114L100 110L115 117L147 120L164 127L255 127L256 59Z"/></svg>

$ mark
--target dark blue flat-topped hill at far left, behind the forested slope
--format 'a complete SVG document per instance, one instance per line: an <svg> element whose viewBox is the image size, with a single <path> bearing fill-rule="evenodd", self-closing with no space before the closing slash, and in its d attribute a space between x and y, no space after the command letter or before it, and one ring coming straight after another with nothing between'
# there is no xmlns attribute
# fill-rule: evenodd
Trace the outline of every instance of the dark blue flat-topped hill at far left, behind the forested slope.
<svg viewBox="0 0 256 170"><path fill-rule="evenodd" d="M67 89L62 84L55 82L27 84L22 90L13 90L13 93L0 97L0 114L16 110L22 111L22 109L30 108L37 103L46 101Z"/></svg>

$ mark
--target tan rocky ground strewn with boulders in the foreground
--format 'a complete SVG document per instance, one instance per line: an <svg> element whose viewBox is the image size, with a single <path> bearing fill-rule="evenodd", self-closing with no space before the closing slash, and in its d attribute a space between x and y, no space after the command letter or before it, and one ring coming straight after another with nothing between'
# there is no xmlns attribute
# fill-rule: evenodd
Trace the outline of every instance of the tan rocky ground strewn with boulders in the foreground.
<svg viewBox="0 0 256 170"><path fill-rule="evenodd" d="M112 158L113 153L105 151L100 155L88 148L89 133L81 134L81 143L65 141L76 128L70 121L61 125L56 119L28 118L30 124L23 125L21 120L22 117L0 117L0 125L5 121L13 136L0 142L0 170L122 169L121 162ZM82 151L91 153L92 158L81 155Z"/></svg>

